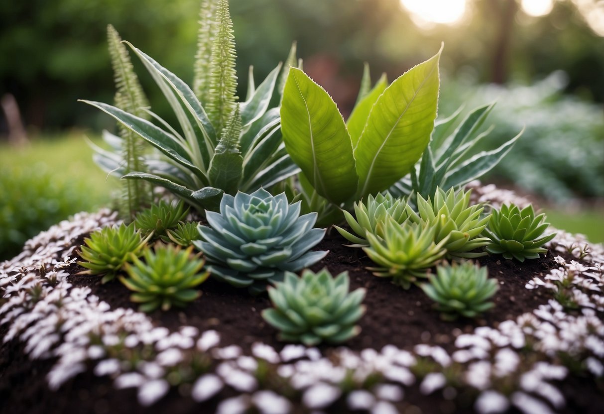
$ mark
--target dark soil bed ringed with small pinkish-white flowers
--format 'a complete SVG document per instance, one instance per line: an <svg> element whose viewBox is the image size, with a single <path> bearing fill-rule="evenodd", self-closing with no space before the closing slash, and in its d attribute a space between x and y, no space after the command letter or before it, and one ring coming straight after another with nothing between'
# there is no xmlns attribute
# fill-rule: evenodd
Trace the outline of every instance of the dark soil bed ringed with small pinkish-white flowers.
<svg viewBox="0 0 604 414"><path fill-rule="evenodd" d="M492 186L475 196L523 202ZM210 279L184 310L147 316L123 285L76 275L83 237L115 217L76 215L0 264L0 412L596 413L604 404L604 254L580 237L559 232L547 255L523 264L478 259L500 284L495 308L443 322L419 288L371 275L362 250L331 232L313 270L349 272L352 288L367 289L367 313L346 348L306 348L277 341L260 316L266 295Z"/></svg>

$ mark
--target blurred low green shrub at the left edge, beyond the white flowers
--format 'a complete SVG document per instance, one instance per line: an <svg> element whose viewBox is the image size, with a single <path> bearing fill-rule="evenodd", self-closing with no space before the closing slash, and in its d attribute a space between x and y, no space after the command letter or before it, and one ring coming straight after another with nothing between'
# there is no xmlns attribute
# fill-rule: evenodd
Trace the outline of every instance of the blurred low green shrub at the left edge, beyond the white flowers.
<svg viewBox="0 0 604 414"><path fill-rule="evenodd" d="M0 261L19 253L40 231L91 209L95 201L79 183L59 179L40 165L0 167Z"/></svg>

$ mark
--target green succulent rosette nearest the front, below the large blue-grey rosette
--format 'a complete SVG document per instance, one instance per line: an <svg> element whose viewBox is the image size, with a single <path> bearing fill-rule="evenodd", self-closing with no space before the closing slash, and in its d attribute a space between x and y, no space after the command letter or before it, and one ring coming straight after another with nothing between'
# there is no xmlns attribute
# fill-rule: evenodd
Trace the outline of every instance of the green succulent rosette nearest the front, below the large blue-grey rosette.
<svg viewBox="0 0 604 414"><path fill-rule="evenodd" d="M274 308L262 312L266 322L280 330L279 339L313 346L339 343L361 331L355 323L365 313L365 289L349 293L347 272L333 278L327 269L305 270L301 278L287 272L283 282L269 287Z"/></svg>

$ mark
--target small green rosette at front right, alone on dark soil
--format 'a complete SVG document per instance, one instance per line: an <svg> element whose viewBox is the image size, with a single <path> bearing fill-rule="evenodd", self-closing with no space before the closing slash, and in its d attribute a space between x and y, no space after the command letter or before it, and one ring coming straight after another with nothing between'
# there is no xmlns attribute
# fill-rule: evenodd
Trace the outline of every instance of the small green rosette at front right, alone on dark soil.
<svg viewBox="0 0 604 414"><path fill-rule="evenodd" d="M442 319L455 320L460 315L476 317L493 307L489 299L499 286L496 279L487 278L486 267L464 262L438 266L436 272L429 276L429 284L422 284L422 289L437 303Z"/></svg>

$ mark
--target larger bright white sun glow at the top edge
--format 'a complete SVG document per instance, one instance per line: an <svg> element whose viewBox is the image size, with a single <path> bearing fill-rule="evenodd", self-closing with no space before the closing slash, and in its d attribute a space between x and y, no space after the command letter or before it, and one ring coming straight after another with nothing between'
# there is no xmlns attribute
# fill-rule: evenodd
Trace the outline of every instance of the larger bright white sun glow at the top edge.
<svg viewBox="0 0 604 414"><path fill-rule="evenodd" d="M455 24L466 11L466 0L400 0L419 24Z"/></svg>

